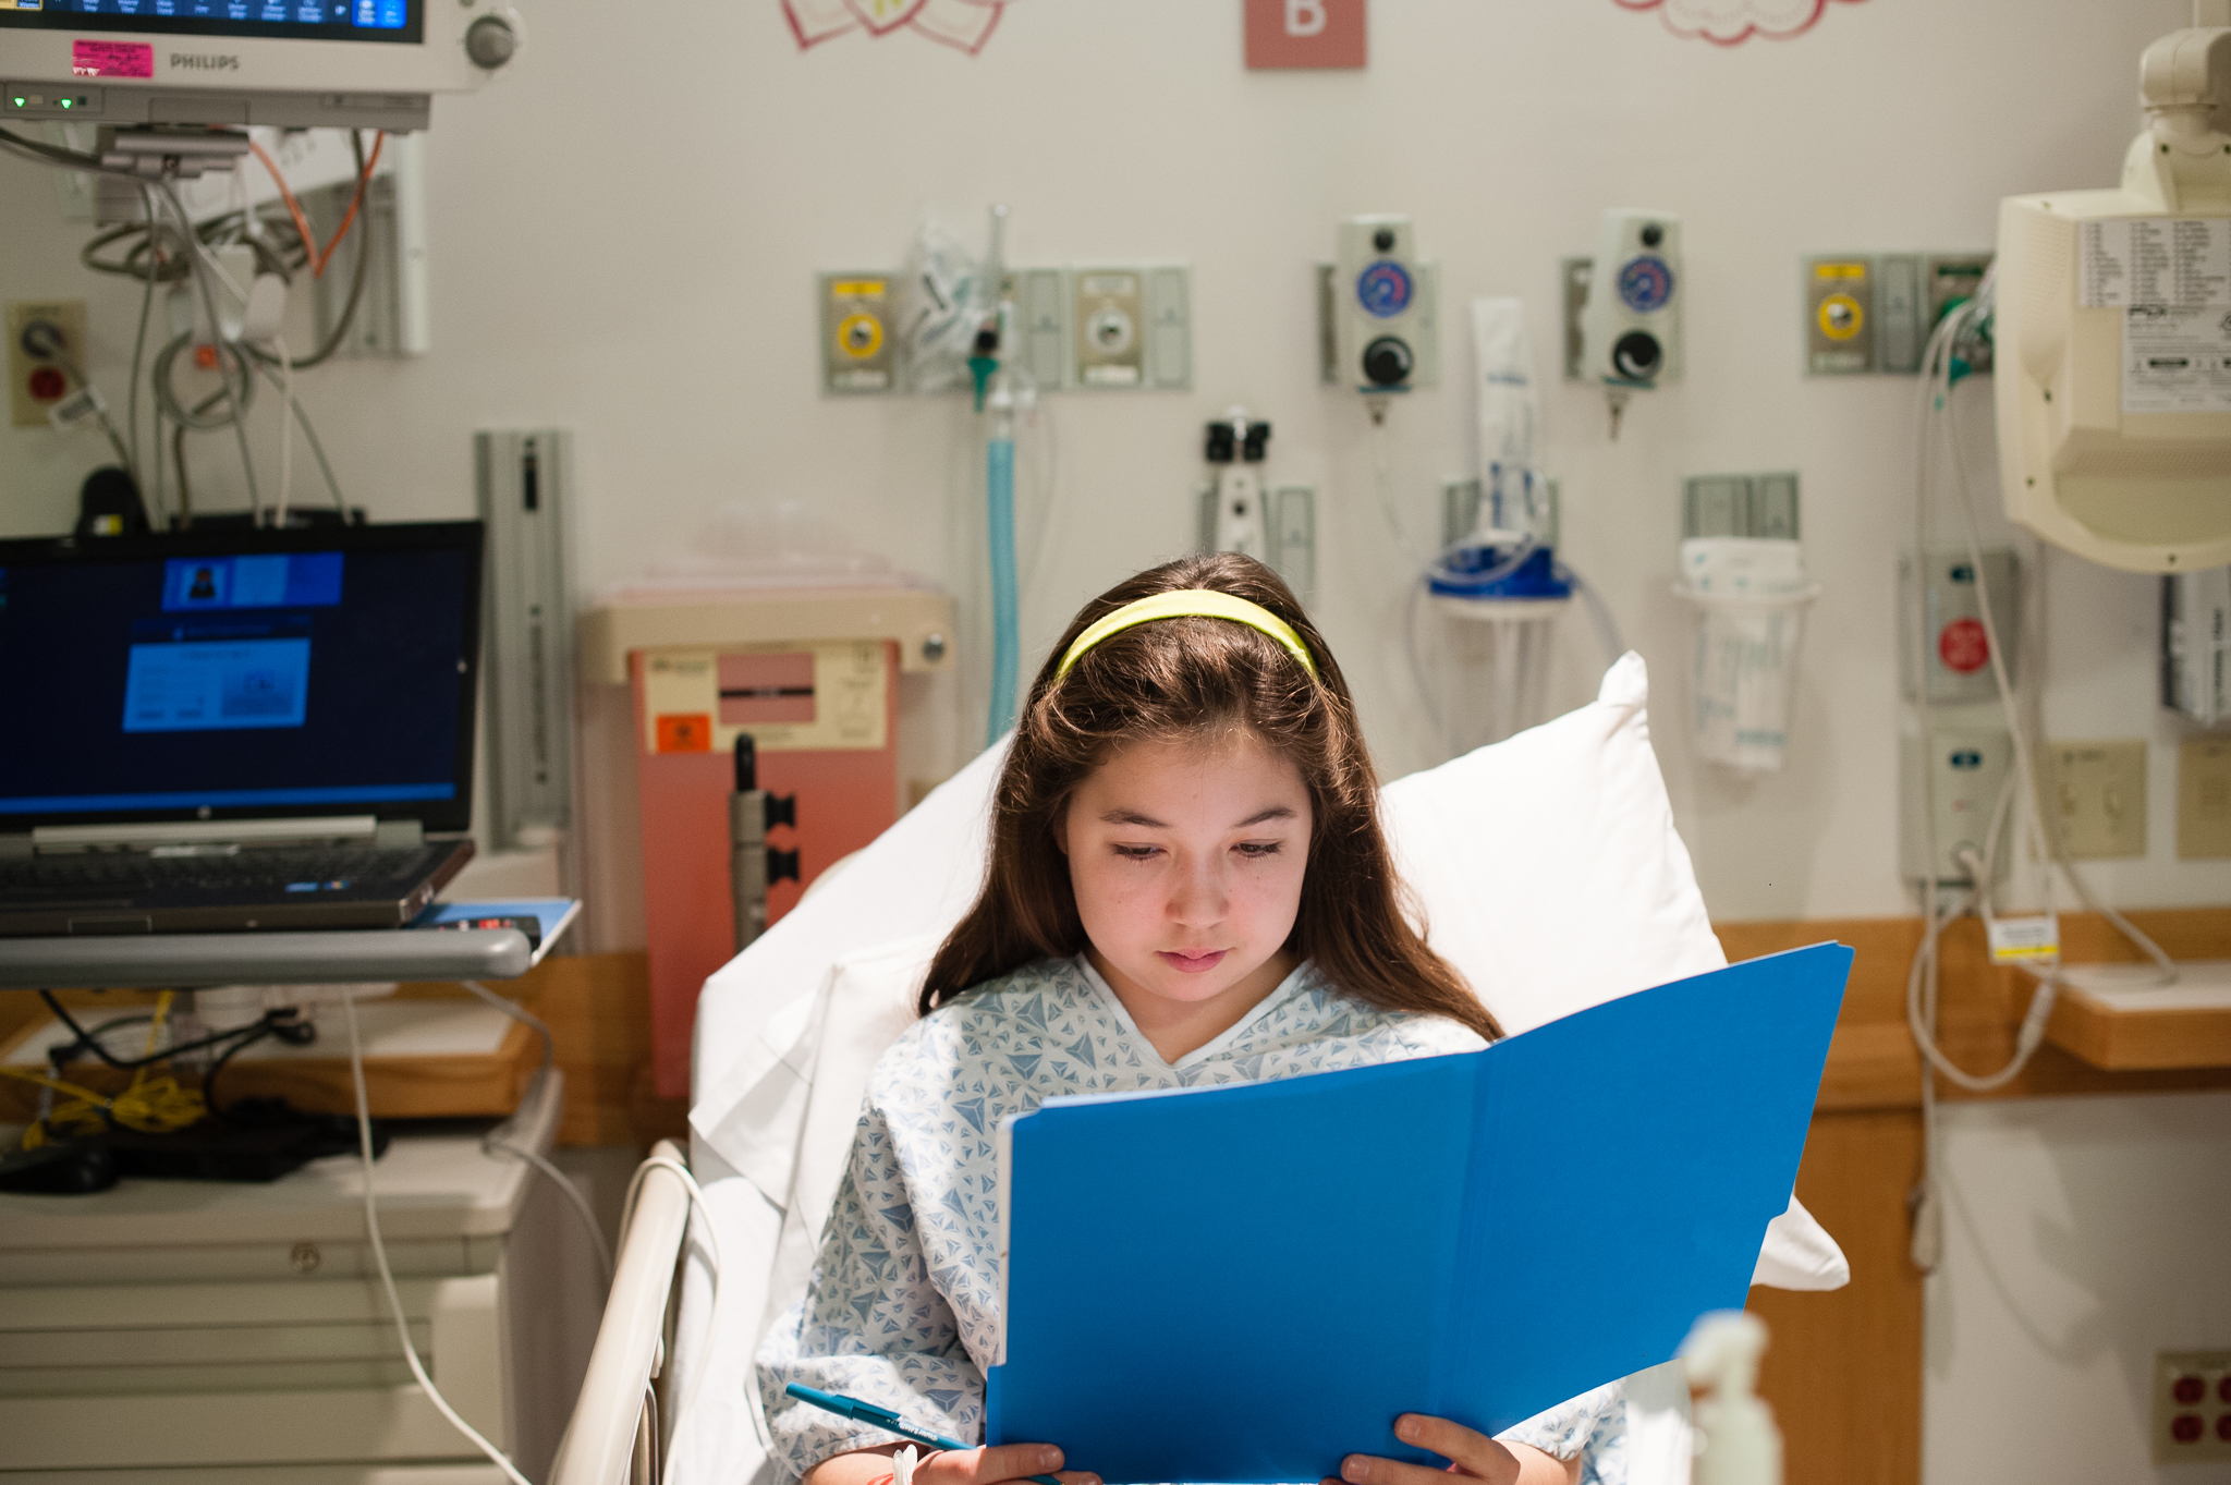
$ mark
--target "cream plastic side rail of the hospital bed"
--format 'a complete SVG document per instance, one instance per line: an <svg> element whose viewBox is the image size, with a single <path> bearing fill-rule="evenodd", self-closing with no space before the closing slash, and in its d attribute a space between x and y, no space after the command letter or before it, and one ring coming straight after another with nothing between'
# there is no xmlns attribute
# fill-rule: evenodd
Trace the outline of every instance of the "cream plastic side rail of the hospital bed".
<svg viewBox="0 0 2231 1485"><path fill-rule="evenodd" d="M651 1159L680 1164L683 1151L660 1139ZM620 1233L620 1262L611 1275L605 1320L596 1329L589 1374L580 1385L549 1485L614 1485L649 1478L640 1460L660 1452L651 1378L665 1362L665 1311L676 1260L689 1231L689 1191L680 1180L651 1171L636 1211ZM631 1474L634 1472L634 1474Z"/></svg>

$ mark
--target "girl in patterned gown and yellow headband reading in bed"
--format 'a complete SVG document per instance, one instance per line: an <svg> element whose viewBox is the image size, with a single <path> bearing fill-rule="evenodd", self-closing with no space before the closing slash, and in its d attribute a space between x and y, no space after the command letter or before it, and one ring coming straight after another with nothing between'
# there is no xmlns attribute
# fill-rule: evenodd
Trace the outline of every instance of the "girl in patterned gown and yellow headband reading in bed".
<svg viewBox="0 0 2231 1485"><path fill-rule="evenodd" d="M1225 553L1109 589L1031 687L984 890L930 963L921 1021L875 1066L812 1284L759 1353L776 1458L805 1485L877 1485L899 1447L790 1400L790 1382L917 1429L982 1431L1006 1115L1060 1093L1292 1077L1499 1035L1403 916L1348 682L1287 586ZM1397 1431L1497 1485L1573 1485L1584 1465L1615 1474L1624 1398L1604 1387L1495 1440L1414 1414ZM1448 1481L1361 1454L1325 1465L1352 1485ZM915 1478L1060 1467L1060 1449L1006 1445L933 1454Z"/></svg>

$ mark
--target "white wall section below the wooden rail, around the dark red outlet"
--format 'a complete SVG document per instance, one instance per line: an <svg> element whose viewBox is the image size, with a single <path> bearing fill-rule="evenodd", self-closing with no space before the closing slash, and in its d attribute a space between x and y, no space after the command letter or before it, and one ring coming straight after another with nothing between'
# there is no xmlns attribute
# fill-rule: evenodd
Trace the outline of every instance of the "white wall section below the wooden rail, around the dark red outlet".
<svg viewBox="0 0 2231 1485"><path fill-rule="evenodd" d="M2231 1336L2231 1095L1943 1108L1923 1478L2224 1485L2153 1467L2155 1351Z"/></svg>

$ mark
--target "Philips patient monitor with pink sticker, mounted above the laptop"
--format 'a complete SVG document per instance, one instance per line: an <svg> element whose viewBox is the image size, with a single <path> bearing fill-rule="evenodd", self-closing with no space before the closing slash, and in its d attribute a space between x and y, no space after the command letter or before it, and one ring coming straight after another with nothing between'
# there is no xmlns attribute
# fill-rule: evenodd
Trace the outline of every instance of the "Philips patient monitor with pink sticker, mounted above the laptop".
<svg viewBox="0 0 2231 1485"><path fill-rule="evenodd" d="M424 129L522 40L500 0L0 0L0 120Z"/></svg>

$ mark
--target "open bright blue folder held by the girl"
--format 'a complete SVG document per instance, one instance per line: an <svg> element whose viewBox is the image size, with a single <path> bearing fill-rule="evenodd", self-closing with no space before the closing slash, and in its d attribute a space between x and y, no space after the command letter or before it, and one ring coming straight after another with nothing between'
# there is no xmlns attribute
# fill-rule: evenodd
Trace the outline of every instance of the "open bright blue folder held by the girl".
<svg viewBox="0 0 2231 1485"><path fill-rule="evenodd" d="M991 1443L1145 1481L1439 1463L1671 1360L1789 1204L1852 950L1658 986L1481 1052L1049 1099L1002 1128Z"/></svg>

